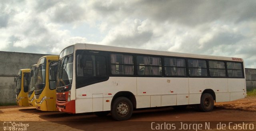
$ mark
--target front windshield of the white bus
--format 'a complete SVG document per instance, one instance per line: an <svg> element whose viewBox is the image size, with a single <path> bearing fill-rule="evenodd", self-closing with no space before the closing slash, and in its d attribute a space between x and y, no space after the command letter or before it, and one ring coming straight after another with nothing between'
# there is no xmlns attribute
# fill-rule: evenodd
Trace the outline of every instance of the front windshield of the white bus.
<svg viewBox="0 0 256 131"><path fill-rule="evenodd" d="M58 78L56 87L63 87L72 83L73 56L65 56L58 64Z"/></svg>

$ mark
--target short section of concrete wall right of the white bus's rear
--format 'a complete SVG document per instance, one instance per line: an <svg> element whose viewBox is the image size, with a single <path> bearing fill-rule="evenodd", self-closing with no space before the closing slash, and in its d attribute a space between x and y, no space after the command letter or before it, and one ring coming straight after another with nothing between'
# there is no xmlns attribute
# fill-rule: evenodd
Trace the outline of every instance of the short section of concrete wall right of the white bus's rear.
<svg viewBox="0 0 256 131"><path fill-rule="evenodd" d="M256 89L256 69L245 68L246 89Z"/></svg>

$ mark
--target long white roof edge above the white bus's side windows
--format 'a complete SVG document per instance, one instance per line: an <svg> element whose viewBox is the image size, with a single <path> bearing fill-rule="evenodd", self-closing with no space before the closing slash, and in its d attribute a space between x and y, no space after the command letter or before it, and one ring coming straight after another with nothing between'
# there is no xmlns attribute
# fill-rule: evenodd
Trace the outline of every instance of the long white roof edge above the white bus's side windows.
<svg viewBox="0 0 256 131"><path fill-rule="evenodd" d="M198 59L243 62L242 58L187 54L187 53L178 53L178 52L165 52L165 51L145 50L145 49L135 49L135 48L123 48L123 47L104 46L104 45L97 45L97 44L77 43L70 46L74 46L74 50L98 50L98 51L109 51L109 52L124 52L124 53L134 53L134 54L148 54L148 55L158 55L158 56L174 56L174 57L183 57L183 58L198 58Z"/></svg>

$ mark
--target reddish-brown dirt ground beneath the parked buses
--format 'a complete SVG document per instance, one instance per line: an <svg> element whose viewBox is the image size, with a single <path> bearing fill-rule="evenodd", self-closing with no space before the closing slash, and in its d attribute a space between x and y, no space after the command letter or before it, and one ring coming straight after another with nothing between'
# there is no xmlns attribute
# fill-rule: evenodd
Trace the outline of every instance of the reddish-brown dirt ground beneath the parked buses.
<svg viewBox="0 0 256 131"><path fill-rule="evenodd" d="M0 121L2 123L4 121L28 123L27 131L152 130L152 122L154 122L153 128L156 123L164 122L177 126L180 122L197 124L210 122L211 131L214 131L218 130L215 127L216 124L220 122L228 124L230 121L253 124L253 130L256 130L256 97L215 103L212 112L199 112L192 107L182 111L174 110L172 107L139 109L134 111L128 121L114 121L110 114L106 117L97 117L93 113L68 114L58 111L40 111L33 107L2 106L0 107ZM0 130L3 129L2 126L3 124L0 123ZM191 131L196 131L196 129L191 129Z"/></svg>

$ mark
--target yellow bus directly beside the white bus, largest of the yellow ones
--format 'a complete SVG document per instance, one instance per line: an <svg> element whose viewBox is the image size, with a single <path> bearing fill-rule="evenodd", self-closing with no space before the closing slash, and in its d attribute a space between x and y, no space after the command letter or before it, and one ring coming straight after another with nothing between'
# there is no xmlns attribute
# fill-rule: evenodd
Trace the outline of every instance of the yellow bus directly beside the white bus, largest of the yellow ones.
<svg viewBox="0 0 256 131"><path fill-rule="evenodd" d="M41 111L56 110L56 85L55 80L50 80L49 69L58 63L59 56L43 56L36 65L35 76L35 105Z"/></svg>

